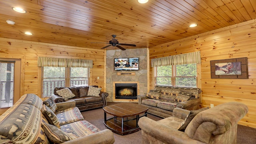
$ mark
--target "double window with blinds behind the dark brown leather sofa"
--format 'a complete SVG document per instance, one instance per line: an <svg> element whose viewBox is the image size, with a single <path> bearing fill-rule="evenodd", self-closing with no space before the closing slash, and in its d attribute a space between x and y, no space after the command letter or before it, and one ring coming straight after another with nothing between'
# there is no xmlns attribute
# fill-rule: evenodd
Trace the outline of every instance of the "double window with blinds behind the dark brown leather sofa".
<svg viewBox="0 0 256 144"><path fill-rule="evenodd" d="M51 96L56 87L88 86L89 68L42 67L42 97Z"/></svg>

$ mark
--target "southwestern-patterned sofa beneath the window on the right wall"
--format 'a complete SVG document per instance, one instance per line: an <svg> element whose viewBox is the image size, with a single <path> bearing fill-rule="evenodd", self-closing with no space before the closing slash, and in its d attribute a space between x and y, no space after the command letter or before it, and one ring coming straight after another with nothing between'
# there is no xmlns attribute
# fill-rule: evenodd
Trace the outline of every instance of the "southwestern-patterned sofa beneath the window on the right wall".
<svg viewBox="0 0 256 144"><path fill-rule="evenodd" d="M201 89L158 85L148 94L138 96L138 102L148 107L148 113L167 118L174 108L198 110L201 103Z"/></svg>

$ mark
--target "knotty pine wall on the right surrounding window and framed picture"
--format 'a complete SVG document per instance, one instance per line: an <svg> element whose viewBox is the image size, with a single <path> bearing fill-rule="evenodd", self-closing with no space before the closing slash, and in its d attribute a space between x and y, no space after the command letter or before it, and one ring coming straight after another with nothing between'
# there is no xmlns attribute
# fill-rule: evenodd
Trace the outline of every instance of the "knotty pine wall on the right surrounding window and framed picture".
<svg viewBox="0 0 256 144"><path fill-rule="evenodd" d="M196 28L195 28L196 29ZM256 20L149 48L149 59L200 51L202 107L236 101L248 114L239 124L256 128ZM248 58L249 79L212 79L210 60ZM150 67L150 88L152 68Z"/></svg>

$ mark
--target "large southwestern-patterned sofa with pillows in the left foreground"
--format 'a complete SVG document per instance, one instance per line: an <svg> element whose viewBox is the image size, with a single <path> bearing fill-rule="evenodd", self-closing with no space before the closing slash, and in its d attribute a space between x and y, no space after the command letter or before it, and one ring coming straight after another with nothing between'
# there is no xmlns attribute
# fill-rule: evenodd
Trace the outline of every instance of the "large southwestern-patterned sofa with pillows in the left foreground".
<svg viewBox="0 0 256 144"><path fill-rule="evenodd" d="M55 113L54 113L55 112ZM114 135L84 120L75 102L25 94L0 116L0 144L113 144Z"/></svg>

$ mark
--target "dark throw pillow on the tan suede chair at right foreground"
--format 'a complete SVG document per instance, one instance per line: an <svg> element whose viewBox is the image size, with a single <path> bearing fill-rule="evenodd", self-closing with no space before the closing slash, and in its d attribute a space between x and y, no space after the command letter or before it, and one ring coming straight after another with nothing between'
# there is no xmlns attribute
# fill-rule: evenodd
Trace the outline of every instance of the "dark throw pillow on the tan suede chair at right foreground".
<svg viewBox="0 0 256 144"><path fill-rule="evenodd" d="M177 130L184 131L188 124L191 122L191 120L199 113L204 110L209 109L209 107L201 108L199 110L191 110L190 113L187 115L185 120L178 126Z"/></svg>

